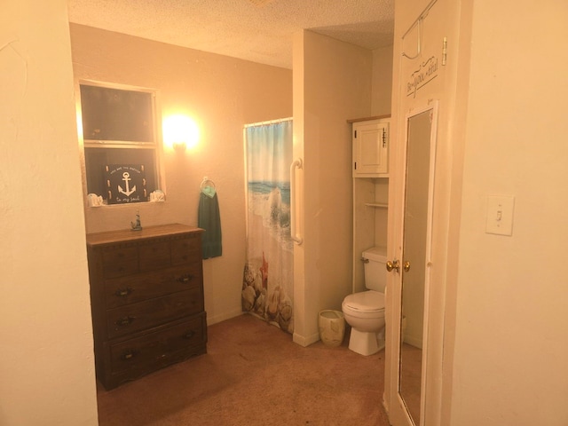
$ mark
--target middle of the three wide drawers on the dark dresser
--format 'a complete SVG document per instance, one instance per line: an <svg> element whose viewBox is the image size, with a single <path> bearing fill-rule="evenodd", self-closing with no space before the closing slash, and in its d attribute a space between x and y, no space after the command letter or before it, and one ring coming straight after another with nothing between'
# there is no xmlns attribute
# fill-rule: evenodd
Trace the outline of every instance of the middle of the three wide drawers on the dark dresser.
<svg viewBox="0 0 568 426"><path fill-rule="evenodd" d="M106 312L106 332L109 339L114 339L202 311L201 288L190 288L168 296L109 309Z"/></svg>

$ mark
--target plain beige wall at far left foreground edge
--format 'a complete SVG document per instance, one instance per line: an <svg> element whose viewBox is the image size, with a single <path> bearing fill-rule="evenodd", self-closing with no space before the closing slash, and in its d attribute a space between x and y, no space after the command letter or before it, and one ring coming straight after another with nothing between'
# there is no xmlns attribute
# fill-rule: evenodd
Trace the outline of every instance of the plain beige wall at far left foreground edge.
<svg viewBox="0 0 568 426"><path fill-rule="evenodd" d="M0 424L96 425L67 2L1 9Z"/></svg>

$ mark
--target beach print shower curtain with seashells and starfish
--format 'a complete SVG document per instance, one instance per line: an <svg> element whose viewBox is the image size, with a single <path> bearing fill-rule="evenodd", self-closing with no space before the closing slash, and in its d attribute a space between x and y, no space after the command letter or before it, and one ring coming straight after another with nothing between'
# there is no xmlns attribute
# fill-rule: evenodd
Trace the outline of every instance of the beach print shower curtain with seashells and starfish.
<svg viewBox="0 0 568 426"><path fill-rule="evenodd" d="M242 310L293 333L292 121L251 124L244 133L248 214Z"/></svg>

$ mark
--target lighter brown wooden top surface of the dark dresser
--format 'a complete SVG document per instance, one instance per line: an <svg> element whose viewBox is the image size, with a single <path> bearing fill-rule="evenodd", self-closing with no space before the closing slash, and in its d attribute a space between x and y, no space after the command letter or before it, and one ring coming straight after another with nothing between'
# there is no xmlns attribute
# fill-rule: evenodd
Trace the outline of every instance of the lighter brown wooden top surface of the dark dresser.
<svg viewBox="0 0 568 426"><path fill-rule="evenodd" d="M104 233L88 233L87 245L97 246L100 244L112 244L121 241L137 241L146 238L178 235L180 233L201 233L201 232L203 232L201 228L197 228L195 226L181 225L181 224L145 226L140 231L122 229L119 231L106 231Z"/></svg>

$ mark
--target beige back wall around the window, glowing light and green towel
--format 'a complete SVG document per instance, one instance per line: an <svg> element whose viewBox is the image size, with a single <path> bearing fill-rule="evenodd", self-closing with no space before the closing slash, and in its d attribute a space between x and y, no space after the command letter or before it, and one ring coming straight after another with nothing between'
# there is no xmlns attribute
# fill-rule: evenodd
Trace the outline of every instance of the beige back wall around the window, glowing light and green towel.
<svg viewBox="0 0 568 426"><path fill-rule="evenodd" d="M292 72L75 24L71 42L75 80L157 89L163 116L188 114L201 130L197 149L163 151L165 203L85 207L87 231L128 228L137 209L143 226L197 225L201 179L209 177L217 187L223 256L203 262L208 323L239 315L245 256L242 127L292 115Z"/></svg>

